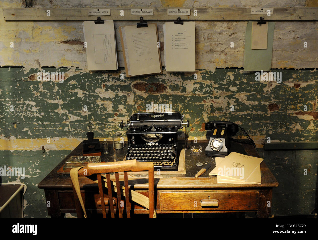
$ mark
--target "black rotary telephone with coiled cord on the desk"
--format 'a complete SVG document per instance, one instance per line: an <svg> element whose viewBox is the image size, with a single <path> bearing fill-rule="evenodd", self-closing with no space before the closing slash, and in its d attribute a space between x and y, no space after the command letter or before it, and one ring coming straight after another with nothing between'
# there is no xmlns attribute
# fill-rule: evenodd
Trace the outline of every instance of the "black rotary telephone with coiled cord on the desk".
<svg viewBox="0 0 318 240"><path fill-rule="evenodd" d="M238 131L242 129L249 142L232 138ZM256 145L252 138L247 134L244 128L238 124L225 121L210 121L205 124L205 130L208 130L206 136L210 137L209 144L205 148L205 154L213 157L225 157L230 153L231 142L239 142L244 144Z"/></svg>

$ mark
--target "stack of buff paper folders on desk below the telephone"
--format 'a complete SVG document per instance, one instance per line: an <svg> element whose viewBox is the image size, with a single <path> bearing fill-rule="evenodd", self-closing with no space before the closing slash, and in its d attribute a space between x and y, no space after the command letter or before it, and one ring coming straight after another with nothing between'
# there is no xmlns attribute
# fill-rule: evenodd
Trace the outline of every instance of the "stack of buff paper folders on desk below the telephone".
<svg viewBox="0 0 318 240"><path fill-rule="evenodd" d="M215 158L216 167L209 175L217 175L218 183L261 184L262 158L231 152L225 158Z"/></svg>

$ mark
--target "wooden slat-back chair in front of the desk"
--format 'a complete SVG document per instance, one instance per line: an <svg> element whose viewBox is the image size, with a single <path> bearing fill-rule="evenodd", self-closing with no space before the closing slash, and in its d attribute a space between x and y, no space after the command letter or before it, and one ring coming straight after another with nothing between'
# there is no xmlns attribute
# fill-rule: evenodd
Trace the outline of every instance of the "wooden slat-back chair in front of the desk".
<svg viewBox="0 0 318 240"><path fill-rule="evenodd" d="M118 206L118 215L119 217L123 216L122 208L120 207L121 203L121 189L120 181L119 181L119 173L124 172L124 187L125 187L125 203L126 203L126 212L127 217L130 218L130 201L129 201L129 189L128 189L128 174L127 171L146 171L148 170L148 183L149 183L149 217L156 217L155 213L155 190L154 190L154 165L152 162L138 162L136 160L127 160L127 161L119 161L119 162L111 162L111 163L89 163L84 167L78 167L71 169L71 179L72 179L72 186L74 192L74 198L76 204L76 212L78 213L78 217L82 215L79 214L80 211L83 210L84 217L87 217L84 203L82 197L80 195L79 189L79 176L90 176L93 174L97 174L97 181L98 181L98 188L100 193L100 202L102 207L103 217L106 217L106 207L105 207L105 199L104 199L104 192L103 192L103 185L104 180L102 180L101 173L106 173L106 182L107 182L107 190L108 190L108 197L109 197L109 209L111 213L111 217L115 216L114 214L114 203L111 201L113 199L112 193L112 181L110 180L109 173L115 173L115 183L117 191L117 206ZM139 193L135 193L139 194ZM143 196L145 197L145 196ZM78 204L78 200L80 205ZM104 204L103 204L104 203ZM107 203L106 203L107 204ZM82 208L82 209L78 209Z"/></svg>

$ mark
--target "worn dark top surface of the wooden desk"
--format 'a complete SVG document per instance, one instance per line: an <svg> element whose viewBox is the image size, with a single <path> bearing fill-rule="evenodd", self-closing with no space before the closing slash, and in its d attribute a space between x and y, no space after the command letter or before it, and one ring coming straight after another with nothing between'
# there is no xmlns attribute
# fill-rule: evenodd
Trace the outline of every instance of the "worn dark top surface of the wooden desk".
<svg viewBox="0 0 318 240"><path fill-rule="evenodd" d="M222 189L222 188L263 188L263 187L277 187L278 182L270 172L265 162L263 161L260 165L261 167L261 182L262 184L226 184L218 183L216 176L211 176L209 173L215 167L215 158L208 157L205 155L205 147L207 145L207 140L198 141L198 143L192 144L188 143L190 147L192 145L201 145L202 153L199 156L190 155L190 149L185 150L185 174L161 174L160 176L155 173L155 187L157 189ZM102 144L102 142L101 142ZM101 161L104 162L113 162L114 161L114 150L112 149L112 143L108 142L109 145L109 154L101 156ZM182 144L179 144L182 145ZM101 145L102 146L102 145ZM69 174L59 174L57 171L64 165L65 161L70 156L82 155L83 143L79 144L68 156L66 156L63 161L56 166L51 173L49 173L39 184L39 188L45 189L72 189L72 181ZM251 145L239 144L236 142L232 143L231 146L232 152L239 152L246 155L251 155L254 157L259 157L257 151ZM127 146L122 150L117 150L116 152L116 161L122 161L127 153ZM200 177L195 178L201 167L196 166L197 162L205 163L209 162L212 166ZM146 189L148 188L148 179L140 179L142 176L136 176L135 179L129 180L129 185L135 189ZM148 178L148 177L147 177ZM83 189L96 187L97 183L94 183L93 177L79 177L80 187Z"/></svg>

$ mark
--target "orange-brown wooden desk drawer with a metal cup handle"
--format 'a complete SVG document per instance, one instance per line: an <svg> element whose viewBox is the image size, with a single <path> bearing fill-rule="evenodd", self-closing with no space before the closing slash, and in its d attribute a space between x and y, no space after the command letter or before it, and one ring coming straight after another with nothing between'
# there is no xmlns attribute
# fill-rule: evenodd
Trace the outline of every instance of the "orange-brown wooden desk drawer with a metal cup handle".
<svg viewBox="0 0 318 240"><path fill-rule="evenodd" d="M158 194L161 211L257 210L259 201L256 190L160 190Z"/></svg>

